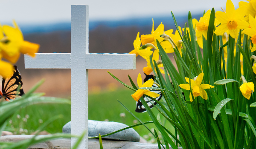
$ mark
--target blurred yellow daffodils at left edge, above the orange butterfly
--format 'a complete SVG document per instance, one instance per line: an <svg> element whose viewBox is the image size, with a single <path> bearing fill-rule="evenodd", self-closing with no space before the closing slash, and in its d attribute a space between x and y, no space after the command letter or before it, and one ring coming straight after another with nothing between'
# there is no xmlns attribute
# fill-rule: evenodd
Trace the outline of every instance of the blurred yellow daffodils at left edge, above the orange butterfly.
<svg viewBox="0 0 256 149"><path fill-rule="evenodd" d="M5 78L12 73L12 64L17 62L20 53L35 57L39 47L40 45L36 43L24 41L23 34L15 21L13 26L0 26L0 75ZM2 58L10 63L1 60Z"/></svg>

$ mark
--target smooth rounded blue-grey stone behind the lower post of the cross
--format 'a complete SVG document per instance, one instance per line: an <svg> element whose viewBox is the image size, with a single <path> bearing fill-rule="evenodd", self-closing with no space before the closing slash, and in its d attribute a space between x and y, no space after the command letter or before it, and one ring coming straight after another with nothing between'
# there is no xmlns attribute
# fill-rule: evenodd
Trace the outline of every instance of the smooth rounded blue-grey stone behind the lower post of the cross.
<svg viewBox="0 0 256 149"><path fill-rule="evenodd" d="M62 128L62 132L70 133L71 132L70 126L71 126L70 122L67 123ZM105 135L105 134L117 131L119 129L123 129L125 127L128 127L128 126L123 123L88 120L88 137L99 136L99 134ZM103 137L103 139L104 138L113 139L113 140L134 141L134 142L140 141L140 135L133 128L129 128L121 132L117 132L113 135Z"/></svg>

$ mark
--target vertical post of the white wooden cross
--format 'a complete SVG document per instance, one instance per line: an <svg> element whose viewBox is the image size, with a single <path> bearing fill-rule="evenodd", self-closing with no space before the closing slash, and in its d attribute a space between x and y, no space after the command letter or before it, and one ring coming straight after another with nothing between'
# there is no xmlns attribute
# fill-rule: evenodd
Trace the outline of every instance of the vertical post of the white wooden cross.
<svg viewBox="0 0 256 149"><path fill-rule="evenodd" d="M71 134L81 135L88 128L88 54L89 27L88 5L71 6ZM79 114L79 115L78 115ZM87 149L88 133L81 141L79 149ZM71 146L76 143L71 138Z"/></svg>

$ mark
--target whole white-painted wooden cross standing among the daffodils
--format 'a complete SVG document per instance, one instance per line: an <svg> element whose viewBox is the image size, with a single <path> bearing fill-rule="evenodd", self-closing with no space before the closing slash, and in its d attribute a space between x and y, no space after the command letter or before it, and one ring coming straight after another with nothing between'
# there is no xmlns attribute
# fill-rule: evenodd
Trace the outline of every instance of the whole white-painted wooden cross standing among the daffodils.
<svg viewBox="0 0 256 149"><path fill-rule="evenodd" d="M88 5L72 5L71 53L37 53L35 59L25 55L25 68L71 69L72 135L88 128L88 69L136 69L135 54L90 54L88 22ZM71 146L76 140L71 138ZM79 146L87 148L88 135Z"/></svg>

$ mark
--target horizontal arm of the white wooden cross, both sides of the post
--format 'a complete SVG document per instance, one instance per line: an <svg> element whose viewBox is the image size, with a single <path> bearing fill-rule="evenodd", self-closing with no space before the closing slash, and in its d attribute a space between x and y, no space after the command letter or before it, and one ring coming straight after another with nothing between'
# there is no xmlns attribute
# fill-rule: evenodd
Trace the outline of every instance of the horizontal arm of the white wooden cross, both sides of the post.
<svg viewBox="0 0 256 149"><path fill-rule="evenodd" d="M26 69L71 69L70 53L25 54ZM136 69L135 54L86 54L86 69Z"/></svg>

